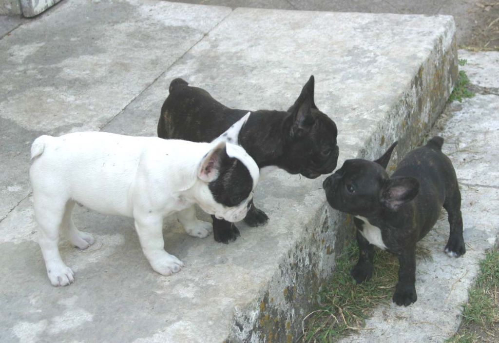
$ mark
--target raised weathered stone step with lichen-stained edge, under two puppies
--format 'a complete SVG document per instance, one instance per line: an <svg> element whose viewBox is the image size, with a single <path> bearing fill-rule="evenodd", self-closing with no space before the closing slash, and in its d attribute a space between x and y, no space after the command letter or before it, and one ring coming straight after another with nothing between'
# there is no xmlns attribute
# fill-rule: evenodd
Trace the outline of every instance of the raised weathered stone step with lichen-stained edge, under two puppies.
<svg viewBox="0 0 499 343"><path fill-rule="evenodd" d="M81 12L72 16L72 6ZM233 244L189 237L165 221L165 248L187 265L173 277L151 270L132 220L77 208L76 225L97 243L83 252L61 243L76 282L53 288L27 196L34 136L154 134L174 77L229 106L286 109L315 74L315 102L339 127L341 160L376 156L395 139L403 153L431 126L457 72L448 16L182 6L68 1L14 30L8 38L16 40L0 40L0 53L13 54L0 88L9 135L1 156L12 161L2 169L2 206L13 206L0 222L0 274L12 276L0 280L2 342L292 340L347 235L344 217L325 204L323 178L275 172L255 197L269 224L238 224ZM59 39L36 36L64 22L71 26L57 26L67 33ZM4 198L9 191L20 195Z"/></svg>

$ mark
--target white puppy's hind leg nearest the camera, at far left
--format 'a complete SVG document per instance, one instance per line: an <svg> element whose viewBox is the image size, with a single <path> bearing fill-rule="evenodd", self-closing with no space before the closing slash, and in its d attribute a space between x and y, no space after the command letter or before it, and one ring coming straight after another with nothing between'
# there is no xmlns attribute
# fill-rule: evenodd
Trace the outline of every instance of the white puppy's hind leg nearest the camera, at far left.
<svg viewBox="0 0 499 343"><path fill-rule="evenodd" d="M40 245L48 279L52 286L66 286L74 281L73 271L62 262L59 254L59 228L64 217L66 201L33 195L34 213L39 226Z"/></svg>

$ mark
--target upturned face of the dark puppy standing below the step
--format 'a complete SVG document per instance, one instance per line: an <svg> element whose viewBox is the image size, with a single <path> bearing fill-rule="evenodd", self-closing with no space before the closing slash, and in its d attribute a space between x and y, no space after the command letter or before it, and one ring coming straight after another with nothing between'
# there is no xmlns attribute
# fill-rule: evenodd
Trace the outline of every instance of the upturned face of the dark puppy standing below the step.
<svg viewBox="0 0 499 343"><path fill-rule="evenodd" d="M368 217L380 210L380 194L388 174L375 162L347 160L322 187L329 205L352 215Z"/></svg>

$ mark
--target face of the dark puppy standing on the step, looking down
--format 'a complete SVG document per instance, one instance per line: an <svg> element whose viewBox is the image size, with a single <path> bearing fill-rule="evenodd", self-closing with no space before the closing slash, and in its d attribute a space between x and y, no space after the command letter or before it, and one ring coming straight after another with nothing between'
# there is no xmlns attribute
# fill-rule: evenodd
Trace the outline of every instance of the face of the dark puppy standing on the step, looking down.
<svg viewBox="0 0 499 343"><path fill-rule="evenodd" d="M336 124L318 109L312 109L313 125L306 132L290 138L281 167L291 174L301 174L309 179L329 174L338 162Z"/></svg>

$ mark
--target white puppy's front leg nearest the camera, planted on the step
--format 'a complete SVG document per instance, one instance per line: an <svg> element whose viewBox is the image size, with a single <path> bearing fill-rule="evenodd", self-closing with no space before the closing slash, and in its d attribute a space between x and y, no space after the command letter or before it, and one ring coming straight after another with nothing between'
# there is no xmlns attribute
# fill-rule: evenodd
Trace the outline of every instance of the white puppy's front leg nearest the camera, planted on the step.
<svg viewBox="0 0 499 343"><path fill-rule="evenodd" d="M142 251L151 267L159 274L166 276L179 272L184 267L184 263L165 251L163 217L134 213L134 219Z"/></svg>

